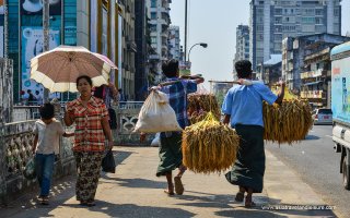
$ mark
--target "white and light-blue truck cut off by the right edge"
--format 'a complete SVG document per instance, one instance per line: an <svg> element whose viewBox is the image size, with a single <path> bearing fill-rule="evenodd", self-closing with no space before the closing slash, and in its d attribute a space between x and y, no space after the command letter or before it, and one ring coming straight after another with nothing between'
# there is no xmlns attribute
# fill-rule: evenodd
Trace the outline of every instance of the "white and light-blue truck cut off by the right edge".
<svg viewBox="0 0 350 218"><path fill-rule="evenodd" d="M332 141L335 150L341 154L343 186L350 190L350 41L334 47L330 59Z"/></svg>

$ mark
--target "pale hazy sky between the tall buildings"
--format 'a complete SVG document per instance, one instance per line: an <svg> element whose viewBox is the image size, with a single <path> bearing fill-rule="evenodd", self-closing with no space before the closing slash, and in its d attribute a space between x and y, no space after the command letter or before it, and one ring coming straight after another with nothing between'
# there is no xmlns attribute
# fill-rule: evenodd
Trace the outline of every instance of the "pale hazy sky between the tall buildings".
<svg viewBox="0 0 350 218"><path fill-rule="evenodd" d="M190 52L191 72L206 80L232 80L237 25L248 25L250 0L188 0L187 49L197 43L208 47L194 47ZM342 0L342 35L350 32L350 0ZM185 0L171 3L172 25L180 27L184 46ZM187 53L188 53L187 50ZM209 85L206 84L208 88Z"/></svg>

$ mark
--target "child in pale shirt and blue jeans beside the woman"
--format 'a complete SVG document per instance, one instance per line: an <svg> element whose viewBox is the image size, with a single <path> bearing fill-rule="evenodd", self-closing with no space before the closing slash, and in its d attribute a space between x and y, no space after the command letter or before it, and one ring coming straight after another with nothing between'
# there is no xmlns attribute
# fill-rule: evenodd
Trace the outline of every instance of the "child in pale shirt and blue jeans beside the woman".
<svg viewBox="0 0 350 218"><path fill-rule="evenodd" d="M69 137L74 133L66 133L62 124L54 118L54 105L47 102L39 108L40 119L35 122L33 132L33 153L35 154L35 171L40 186L39 201L48 205L55 155L59 154L60 136Z"/></svg>

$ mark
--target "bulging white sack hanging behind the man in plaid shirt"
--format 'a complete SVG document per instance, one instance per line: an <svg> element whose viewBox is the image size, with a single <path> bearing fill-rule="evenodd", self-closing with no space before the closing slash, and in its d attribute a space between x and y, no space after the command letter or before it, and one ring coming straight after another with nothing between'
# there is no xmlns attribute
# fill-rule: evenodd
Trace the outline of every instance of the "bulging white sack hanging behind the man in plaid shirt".
<svg viewBox="0 0 350 218"><path fill-rule="evenodd" d="M145 99L133 132L158 133L182 131L165 93L152 90Z"/></svg>

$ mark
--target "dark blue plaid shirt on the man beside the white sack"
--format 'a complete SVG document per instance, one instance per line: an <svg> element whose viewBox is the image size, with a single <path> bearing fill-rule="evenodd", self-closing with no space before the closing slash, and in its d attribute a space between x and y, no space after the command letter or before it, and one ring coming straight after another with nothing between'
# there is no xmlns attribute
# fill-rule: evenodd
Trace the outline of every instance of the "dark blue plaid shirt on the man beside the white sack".
<svg viewBox="0 0 350 218"><path fill-rule="evenodd" d="M166 82L171 81L178 81L178 78L172 77L166 80ZM197 92L197 83L191 80L180 80L178 83L162 87L161 92L167 94L170 105L175 110L177 122L182 129L185 129L189 124L187 117L187 94ZM163 135L161 134L161 136Z"/></svg>

